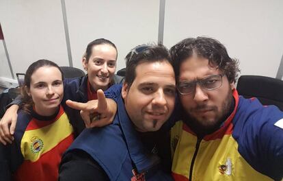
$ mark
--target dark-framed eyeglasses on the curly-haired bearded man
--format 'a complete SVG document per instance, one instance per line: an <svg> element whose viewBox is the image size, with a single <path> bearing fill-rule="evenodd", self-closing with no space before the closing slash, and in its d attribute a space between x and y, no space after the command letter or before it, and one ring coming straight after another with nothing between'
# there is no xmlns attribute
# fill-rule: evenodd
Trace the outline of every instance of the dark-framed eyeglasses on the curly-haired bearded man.
<svg viewBox="0 0 283 181"><path fill-rule="evenodd" d="M199 84L201 88L205 90L214 90L222 85L222 77L224 75L209 75L201 80L179 82L177 89L181 95L189 95L196 91L196 84Z"/></svg>

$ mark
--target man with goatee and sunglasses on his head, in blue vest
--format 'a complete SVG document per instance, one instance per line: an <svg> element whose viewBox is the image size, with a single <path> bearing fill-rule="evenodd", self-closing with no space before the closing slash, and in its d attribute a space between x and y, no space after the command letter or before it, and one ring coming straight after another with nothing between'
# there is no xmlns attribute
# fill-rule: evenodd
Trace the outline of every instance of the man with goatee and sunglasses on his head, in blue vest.
<svg viewBox="0 0 283 181"><path fill-rule="evenodd" d="M158 156L164 138L156 131L172 114L175 95L169 51L163 45L133 49L113 123L81 132L62 158L59 180L172 180Z"/></svg>

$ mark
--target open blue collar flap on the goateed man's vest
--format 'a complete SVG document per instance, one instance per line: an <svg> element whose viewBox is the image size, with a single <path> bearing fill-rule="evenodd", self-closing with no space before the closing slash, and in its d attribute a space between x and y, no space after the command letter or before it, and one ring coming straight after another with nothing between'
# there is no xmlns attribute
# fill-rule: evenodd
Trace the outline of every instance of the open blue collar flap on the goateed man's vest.
<svg viewBox="0 0 283 181"><path fill-rule="evenodd" d="M118 120L125 136L129 155L139 173L143 173L160 163L159 156L150 153L140 141L133 122L126 113L122 96L118 98Z"/></svg>

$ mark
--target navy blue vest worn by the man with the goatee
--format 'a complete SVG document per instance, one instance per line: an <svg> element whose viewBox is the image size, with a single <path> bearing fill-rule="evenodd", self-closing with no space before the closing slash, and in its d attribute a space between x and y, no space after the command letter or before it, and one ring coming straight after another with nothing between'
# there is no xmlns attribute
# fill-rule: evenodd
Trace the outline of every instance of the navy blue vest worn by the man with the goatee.
<svg viewBox="0 0 283 181"><path fill-rule="evenodd" d="M121 96L117 103L118 112L113 123L105 128L83 130L66 154L78 149L87 152L103 168L110 180L135 180L135 177L172 180L170 173L161 169L159 156L150 152L140 141Z"/></svg>

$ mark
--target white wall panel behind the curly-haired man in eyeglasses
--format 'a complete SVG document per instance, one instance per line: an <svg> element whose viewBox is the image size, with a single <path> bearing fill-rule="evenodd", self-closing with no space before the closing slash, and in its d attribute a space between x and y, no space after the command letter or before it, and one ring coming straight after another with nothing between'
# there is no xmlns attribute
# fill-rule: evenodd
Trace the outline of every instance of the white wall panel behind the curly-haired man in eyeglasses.
<svg viewBox="0 0 283 181"><path fill-rule="evenodd" d="M210 36L240 60L241 75L275 77L283 53L281 0L167 0L164 43Z"/></svg>

